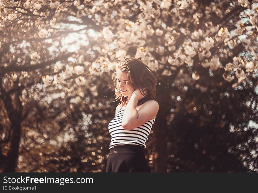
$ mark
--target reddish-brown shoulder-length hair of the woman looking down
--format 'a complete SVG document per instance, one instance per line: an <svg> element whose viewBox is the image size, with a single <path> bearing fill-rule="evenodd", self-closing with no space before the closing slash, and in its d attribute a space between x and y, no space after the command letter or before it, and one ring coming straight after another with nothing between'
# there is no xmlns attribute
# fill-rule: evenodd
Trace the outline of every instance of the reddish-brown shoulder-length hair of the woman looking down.
<svg viewBox="0 0 258 193"><path fill-rule="evenodd" d="M157 78L154 76L150 68L140 59L129 57L125 58L123 61L117 61L116 70L117 69L120 69L122 72L126 72L127 83L134 89L139 88L142 95L145 96L145 98L138 101L137 106L145 103L147 100L156 99ZM125 106L128 103L128 97L124 97L116 85L116 70L112 75L115 88L112 90L115 91L115 100L113 102L120 100L119 104ZM146 93L144 88L146 88Z"/></svg>

